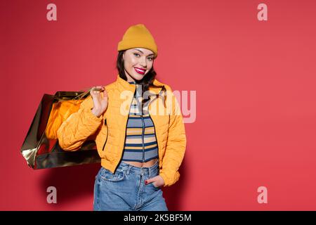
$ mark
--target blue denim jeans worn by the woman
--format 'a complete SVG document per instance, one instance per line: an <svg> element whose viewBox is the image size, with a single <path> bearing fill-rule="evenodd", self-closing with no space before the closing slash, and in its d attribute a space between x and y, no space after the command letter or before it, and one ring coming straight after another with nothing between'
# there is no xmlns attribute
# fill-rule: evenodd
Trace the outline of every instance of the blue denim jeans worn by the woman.
<svg viewBox="0 0 316 225"><path fill-rule="evenodd" d="M121 161L114 174L101 167L94 184L93 210L168 211L162 188L145 185L145 180L158 174L158 160L151 167L134 167Z"/></svg>

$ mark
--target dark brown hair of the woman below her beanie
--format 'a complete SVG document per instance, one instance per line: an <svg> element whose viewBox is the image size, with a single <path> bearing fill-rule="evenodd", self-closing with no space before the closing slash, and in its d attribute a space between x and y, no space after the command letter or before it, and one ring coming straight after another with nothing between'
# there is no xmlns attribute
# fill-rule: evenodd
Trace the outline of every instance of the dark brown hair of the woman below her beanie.
<svg viewBox="0 0 316 225"><path fill-rule="evenodd" d="M121 79L124 79L127 81L127 77L125 74L125 70L124 70L124 59L123 59L123 54L124 51L126 50L121 50L119 51L119 54L117 55L117 70L119 72L119 77L121 77ZM150 86L154 86L154 87L162 87L162 91L166 92L166 88L165 86L157 86L154 85L154 78L156 77L157 73L156 71L154 71L154 66L152 66L152 68L150 69L150 71L147 72L147 74L143 77L143 79L141 80L136 80L136 84L141 84L142 86L142 96L145 93L145 91L149 90ZM157 98L159 98L159 94L157 94ZM143 98L142 101L142 108L144 106L144 104L149 100L149 98ZM166 99L164 99L164 104L166 104Z"/></svg>

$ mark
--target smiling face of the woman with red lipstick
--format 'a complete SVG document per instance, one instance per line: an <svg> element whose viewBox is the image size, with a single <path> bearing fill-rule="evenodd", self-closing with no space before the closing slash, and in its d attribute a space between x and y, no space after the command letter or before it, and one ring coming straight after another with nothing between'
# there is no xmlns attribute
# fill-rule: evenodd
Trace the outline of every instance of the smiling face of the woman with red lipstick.
<svg viewBox="0 0 316 225"><path fill-rule="evenodd" d="M124 69L128 82L143 79L154 64L154 53L149 49L127 49L123 54Z"/></svg>

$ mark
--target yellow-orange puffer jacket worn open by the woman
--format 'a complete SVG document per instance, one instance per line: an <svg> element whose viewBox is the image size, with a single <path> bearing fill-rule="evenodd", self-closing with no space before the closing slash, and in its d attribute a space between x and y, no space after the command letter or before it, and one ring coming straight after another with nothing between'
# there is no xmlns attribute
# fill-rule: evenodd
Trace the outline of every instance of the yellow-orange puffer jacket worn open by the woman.
<svg viewBox="0 0 316 225"><path fill-rule="evenodd" d="M165 86L166 95L150 96L148 110L156 131L159 153L159 175L164 186L171 186L180 177L178 169L183 161L186 148L183 115L170 86L154 79L157 86ZM105 86L108 96L107 110L100 117L91 113L93 100L88 96L73 113L62 123L57 131L60 147L64 150L78 150L86 139L96 137L96 146L101 165L112 173L117 169L123 154L126 124L129 108L136 89L135 84L121 79ZM150 87L151 94L159 94L162 88ZM166 101L164 102L164 98Z"/></svg>

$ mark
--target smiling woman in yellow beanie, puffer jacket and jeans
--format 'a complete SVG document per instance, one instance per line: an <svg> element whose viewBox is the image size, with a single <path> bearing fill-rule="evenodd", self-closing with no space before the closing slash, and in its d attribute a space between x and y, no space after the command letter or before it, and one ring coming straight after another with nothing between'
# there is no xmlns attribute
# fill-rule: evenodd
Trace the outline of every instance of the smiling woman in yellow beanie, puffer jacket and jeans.
<svg viewBox="0 0 316 225"><path fill-rule="evenodd" d="M101 158L93 210L167 211L162 186L179 179L186 136L170 86L155 79L157 45L145 25L129 27L117 46L117 80L96 86L58 129L64 150L93 136Z"/></svg>

